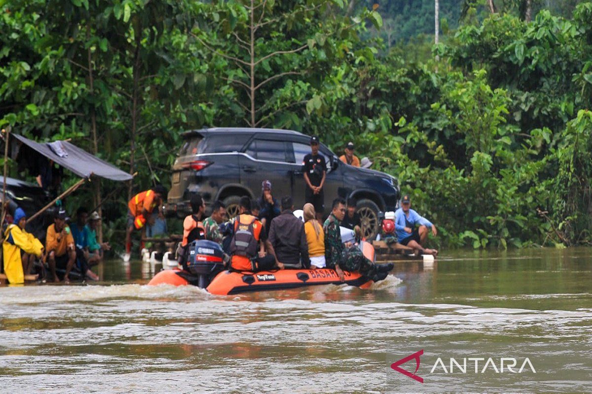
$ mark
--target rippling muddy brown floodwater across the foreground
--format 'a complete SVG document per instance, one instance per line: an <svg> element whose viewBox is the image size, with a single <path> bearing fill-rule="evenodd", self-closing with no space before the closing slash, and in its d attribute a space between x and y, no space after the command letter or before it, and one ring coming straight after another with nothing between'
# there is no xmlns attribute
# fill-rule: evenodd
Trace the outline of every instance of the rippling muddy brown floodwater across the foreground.
<svg viewBox="0 0 592 394"><path fill-rule="evenodd" d="M591 257L450 252L371 289L227 297L111 261L98 285L0 288L0 392L589 393ZM391 369L420 350L423 383Z"/></svg>

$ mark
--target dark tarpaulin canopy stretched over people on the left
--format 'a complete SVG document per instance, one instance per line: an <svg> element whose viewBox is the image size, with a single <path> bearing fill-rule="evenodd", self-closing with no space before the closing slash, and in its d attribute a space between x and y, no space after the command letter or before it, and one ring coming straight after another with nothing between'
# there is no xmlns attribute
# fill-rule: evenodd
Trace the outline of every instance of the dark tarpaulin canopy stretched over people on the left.
<svg viewBox="0 0 592 394"><path fill-rule="evenodd" d="M40 144L22 135L12 134L11 136L81 178L89 178L91 175L114 181L129 181L133 178L131 174L121 171L70 142L56 141L59 144L47 142Z"/></svg>

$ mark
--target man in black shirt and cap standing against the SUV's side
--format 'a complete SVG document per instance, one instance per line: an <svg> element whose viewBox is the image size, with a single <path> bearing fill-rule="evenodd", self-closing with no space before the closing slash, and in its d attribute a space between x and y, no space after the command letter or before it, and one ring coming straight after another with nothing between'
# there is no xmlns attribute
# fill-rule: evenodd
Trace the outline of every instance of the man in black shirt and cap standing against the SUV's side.
<svg viewBox="0 0 592 394"><path fill-rule="evenodd" d="M325 175L327 174L327 164L325 158L318 154L318 137L313 136L310 139L311 153L306 155L302 163L302 172L307 188L304 194L305 201L314 206L317 219L323 219Z"/></svg>

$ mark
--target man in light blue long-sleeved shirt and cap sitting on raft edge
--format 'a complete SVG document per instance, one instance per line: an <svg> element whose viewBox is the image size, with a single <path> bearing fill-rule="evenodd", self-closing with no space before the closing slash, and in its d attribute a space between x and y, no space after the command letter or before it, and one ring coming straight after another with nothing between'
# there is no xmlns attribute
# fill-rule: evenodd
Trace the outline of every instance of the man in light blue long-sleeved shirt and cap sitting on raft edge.
<svg viewBox="0 0 592 394"><path fill-rule="evenodd" d="M416 226L419 226L416 228ZM409 196L403 196L401 207L395 211L395 230L397 231L397 242L401 245L409 246L428 255L437 255L436 249L425 249L427 240L427 229L432 229L432 235L437 235L436 226L425 217L420 216L411 209L411 199Z"/></svg>

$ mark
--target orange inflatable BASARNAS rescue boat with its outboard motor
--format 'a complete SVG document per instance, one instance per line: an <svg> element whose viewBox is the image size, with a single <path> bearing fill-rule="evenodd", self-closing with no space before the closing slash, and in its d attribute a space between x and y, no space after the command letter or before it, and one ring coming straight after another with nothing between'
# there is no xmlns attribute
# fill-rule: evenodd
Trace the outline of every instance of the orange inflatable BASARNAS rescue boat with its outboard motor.
<svg viewBox="0 0 592 394"><path fill-rule="evenodd" d="M366 258L374 261L374 247L361 242ZM149 285L195 285L211 294L228 295L242 292L291 289L303 286L346 283L367 288L371 279L359 272L344 271L345 282L339 280L333 269L282 269L278 271L236 272L224 271L223 252L220 246L207 240L196 240L189 245L189 258L184 269L163 270L157 273Z"/></svg>

